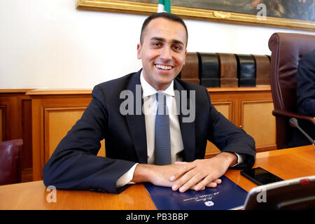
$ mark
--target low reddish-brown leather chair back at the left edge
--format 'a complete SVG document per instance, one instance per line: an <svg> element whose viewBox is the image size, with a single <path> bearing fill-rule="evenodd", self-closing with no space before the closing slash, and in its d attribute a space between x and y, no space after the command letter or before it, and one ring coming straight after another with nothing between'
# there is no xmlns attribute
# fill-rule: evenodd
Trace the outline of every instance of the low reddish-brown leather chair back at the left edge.
<svg viewBox="0 0 315 224"><path fill-rule="evenodd" d="M0 185L21 182L22 145L22 139L0 142Z"/></svg>

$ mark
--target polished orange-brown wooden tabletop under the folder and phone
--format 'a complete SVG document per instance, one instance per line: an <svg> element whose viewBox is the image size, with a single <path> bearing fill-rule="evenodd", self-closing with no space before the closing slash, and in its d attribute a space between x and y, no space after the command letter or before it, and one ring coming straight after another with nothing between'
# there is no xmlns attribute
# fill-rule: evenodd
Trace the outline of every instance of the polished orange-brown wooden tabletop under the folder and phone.
<svg viewBox="0 0 315 224"><path fill-rule="evenodd" d="M267 169L285 180L315 175L315 146L257 153L254 167ZM246 191L256 186L239 172L229 169L225 176ZM0 186L0 209L156 209L142 184L119 195L57 189L56 202L51 202L52 191L47 190L43 181Z"/></svg>

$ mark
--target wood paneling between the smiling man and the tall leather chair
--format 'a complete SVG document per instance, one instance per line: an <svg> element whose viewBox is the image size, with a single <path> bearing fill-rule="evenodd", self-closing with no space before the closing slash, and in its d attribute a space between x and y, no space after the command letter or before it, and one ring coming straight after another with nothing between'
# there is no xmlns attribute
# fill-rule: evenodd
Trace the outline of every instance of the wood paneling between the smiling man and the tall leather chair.
<svg viewBox="0 0 315 224"><path fill-rule="evenodd" d="M272 116L272 94L270 86L263 87L230 87L208 88L211 102L218 107L218 103L232 102L228 117L226 109L218 107L232 123L242 128L255 140L256 151L276 149L276 121ZM215 146L208 143L206 158L216 155Z"/></svg>

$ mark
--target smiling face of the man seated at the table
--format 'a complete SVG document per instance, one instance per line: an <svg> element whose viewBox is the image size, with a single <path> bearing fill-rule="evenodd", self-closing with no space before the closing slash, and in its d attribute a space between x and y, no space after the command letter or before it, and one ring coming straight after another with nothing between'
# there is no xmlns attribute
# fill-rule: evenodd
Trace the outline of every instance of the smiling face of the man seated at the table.
<svg viewBox="0 0 315 224"><path fill-rule="evenodd" d="M137 45L146 81L155 90L165 90L185 64L186 29L180 22L155 18L149 22Z"/></svg>

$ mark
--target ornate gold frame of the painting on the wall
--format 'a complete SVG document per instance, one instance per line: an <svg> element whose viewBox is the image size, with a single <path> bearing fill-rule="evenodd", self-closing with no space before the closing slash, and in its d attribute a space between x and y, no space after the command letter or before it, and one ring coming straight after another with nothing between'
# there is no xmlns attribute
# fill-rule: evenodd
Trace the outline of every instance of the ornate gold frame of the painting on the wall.
<svg viewBox="0 0 315 224"><path fill-rule="evenodd" d="M77 0L77 8L80 10L101 10L118 13L151 15L158 10L158 4L118 0ZM265 20L258 20L256 15L179 6L172 6L172 13L180 15L182 18L195 20L315 31L315 22L305 20L291 20L274 17L266 17Z"/></svg>

